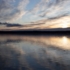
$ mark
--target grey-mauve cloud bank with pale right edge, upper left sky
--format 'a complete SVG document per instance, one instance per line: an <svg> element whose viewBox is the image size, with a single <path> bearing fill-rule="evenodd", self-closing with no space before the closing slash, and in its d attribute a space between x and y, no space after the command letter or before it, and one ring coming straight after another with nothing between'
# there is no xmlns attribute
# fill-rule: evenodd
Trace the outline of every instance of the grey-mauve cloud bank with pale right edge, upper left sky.
<svg viewBox="0 0 70 70"><path fill-rule="evenodd" d="M0 0L0 21L11 22L26 14L29 0Z"/></svg>

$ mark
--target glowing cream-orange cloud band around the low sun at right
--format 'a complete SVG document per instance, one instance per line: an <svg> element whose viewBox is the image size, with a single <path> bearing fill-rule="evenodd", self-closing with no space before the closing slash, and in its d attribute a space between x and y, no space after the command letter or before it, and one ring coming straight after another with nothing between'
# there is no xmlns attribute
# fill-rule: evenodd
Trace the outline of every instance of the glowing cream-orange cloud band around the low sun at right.
<svg viewBox="0 0 70 70"><path fill-rule="evenodd" d="M63 26L70 27L70 16L64 15L49 19L42 19L33 22L26 27L27 29L47 29L47 28L62 28Z"/></svg>

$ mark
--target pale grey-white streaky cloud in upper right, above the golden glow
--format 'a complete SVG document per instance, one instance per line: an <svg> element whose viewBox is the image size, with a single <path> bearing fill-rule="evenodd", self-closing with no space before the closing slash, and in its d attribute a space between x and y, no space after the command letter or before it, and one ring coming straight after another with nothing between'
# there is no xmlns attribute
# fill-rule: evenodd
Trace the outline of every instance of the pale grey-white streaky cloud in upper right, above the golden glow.
<svg viewBox="0 0 70 70"><path fill-rule="evenodd" d="M41 0L31 12L47 18L70 15L70 0Z"/></svg>

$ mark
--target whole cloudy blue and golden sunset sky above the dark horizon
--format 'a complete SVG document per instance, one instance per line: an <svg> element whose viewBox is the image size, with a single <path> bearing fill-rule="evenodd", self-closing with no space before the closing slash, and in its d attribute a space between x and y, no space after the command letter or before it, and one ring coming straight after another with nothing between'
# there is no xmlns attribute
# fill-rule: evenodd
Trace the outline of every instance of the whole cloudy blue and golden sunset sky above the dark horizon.
<svg viewBox="0 0 70 70"><path fill-rule="evenodd" d="M0 0L0 22L69 26L70 0Z"/></svg>

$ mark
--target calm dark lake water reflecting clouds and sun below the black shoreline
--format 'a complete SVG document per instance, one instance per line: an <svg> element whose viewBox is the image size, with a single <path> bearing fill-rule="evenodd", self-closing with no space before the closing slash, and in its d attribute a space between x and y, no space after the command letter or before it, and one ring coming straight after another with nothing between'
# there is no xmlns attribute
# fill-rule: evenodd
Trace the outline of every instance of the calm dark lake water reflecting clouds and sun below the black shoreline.
<svg viewBox="0 0 70 70"><path fill-rule="evenodd" d="M70 36L0 35L0 70L70 70Z"/></svg>

